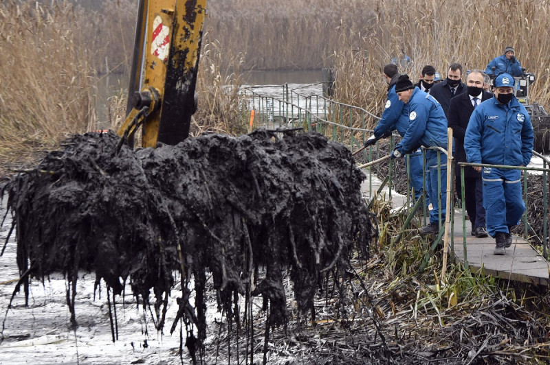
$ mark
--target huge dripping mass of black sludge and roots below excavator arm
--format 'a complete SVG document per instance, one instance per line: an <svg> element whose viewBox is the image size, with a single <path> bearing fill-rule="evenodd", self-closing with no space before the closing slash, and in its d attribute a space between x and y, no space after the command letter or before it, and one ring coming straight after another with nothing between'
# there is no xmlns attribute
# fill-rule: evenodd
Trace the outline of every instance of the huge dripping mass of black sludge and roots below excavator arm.
<svg viewBox="0 0 550 365"><path fill-rule="evenodd" d="M320 134L210 134L117 153L118 141L112 132L76 135L2 189L17 234L16 291L29 276L62 272L73 321L78 271L87 270L115 295L129 281L161 329L183 270L172 331L179 319L190 327L195 358L206 338L207 272L228 313L234 294L252 288L270 303L270 325L282 325L286 270L305 314L323 272L348 268L353 250L368 255L376 229L361 198L364 174L347 148ZM259 267L261 279L252 275Z"/></svg>

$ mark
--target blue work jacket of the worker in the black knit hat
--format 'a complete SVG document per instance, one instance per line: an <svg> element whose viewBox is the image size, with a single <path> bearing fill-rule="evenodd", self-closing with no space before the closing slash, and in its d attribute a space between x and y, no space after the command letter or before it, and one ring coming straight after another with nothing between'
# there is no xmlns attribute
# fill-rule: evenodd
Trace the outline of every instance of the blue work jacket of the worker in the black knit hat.
<svg viewBox="0 0 550 365"><path fill-rule="evenodd" d="M397 150L408 154L420 145L447 148L447 119L441 104L432 95L415 87L407 105L408 128Z"/></svg>

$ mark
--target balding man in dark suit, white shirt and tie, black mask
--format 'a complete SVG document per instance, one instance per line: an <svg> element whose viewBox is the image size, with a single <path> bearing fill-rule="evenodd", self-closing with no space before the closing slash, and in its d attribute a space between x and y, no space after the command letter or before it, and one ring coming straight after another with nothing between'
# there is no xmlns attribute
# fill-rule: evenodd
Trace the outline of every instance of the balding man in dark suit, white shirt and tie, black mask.
<svg viewBox="0 0 550 365"><path fill-rule="evenodd" d="M461 169L459 162L466 162L464 151L464 134L474 113L474 108L481 102L491 99L492 95L483 90L485 73L481 70L471 71L467 77L467 92L456 95L450 100L449 114L447 117L448 126L452 128L454 137L454 158L456 172L456 186L461 186ZM481 174L472 167L464 168L464 192L465 204L468 217L472 222L472 235L476 237L487 237L485 229L485 209L483 208L483 180Z"/></svg>

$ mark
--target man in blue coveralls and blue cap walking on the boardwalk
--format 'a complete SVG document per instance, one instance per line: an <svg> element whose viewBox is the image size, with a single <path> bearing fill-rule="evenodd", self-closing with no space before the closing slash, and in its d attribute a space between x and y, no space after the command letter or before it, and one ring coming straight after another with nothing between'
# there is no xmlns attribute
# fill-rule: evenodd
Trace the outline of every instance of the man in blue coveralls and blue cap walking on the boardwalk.
<svg viewBox="0 0 550 365"><path fill-rule="evenodd" d="M533 126L525 106L514 96L514 78L502 73L494 80L494 96L472 113L464 137L470 163L527 166L533 154ZM474 167L483 178L487 232L495 239L494 255L506 255L510 229L525 211L521 170Z"/></svg>

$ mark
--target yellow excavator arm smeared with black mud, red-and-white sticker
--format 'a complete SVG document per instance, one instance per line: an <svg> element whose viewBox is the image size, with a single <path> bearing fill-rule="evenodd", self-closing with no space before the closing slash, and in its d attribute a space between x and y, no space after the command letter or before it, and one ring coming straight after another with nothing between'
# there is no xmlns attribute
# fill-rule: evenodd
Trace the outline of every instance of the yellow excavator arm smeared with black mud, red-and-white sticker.
<svg viewBox="0 0 550 365"><path fill-rule="evenodd" d="M126 120L117 132L129 143L140 126L143 147L188 137L205 17L206 0L140 0Z"/></svg>

